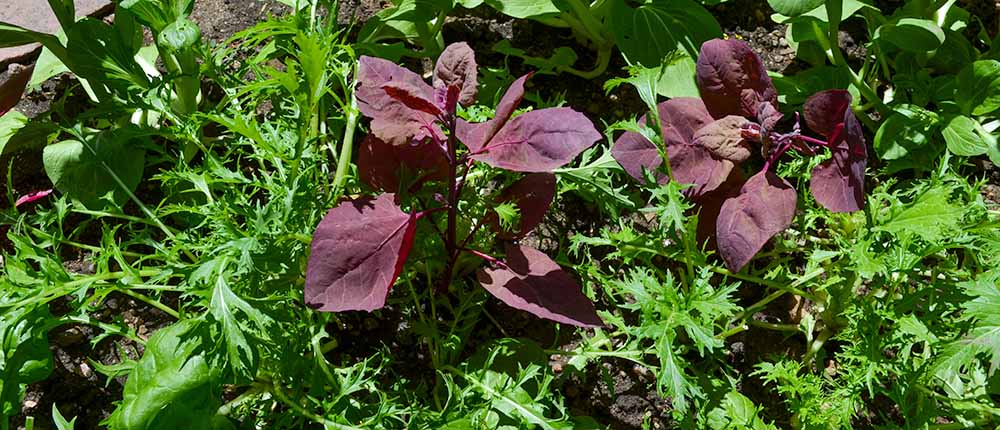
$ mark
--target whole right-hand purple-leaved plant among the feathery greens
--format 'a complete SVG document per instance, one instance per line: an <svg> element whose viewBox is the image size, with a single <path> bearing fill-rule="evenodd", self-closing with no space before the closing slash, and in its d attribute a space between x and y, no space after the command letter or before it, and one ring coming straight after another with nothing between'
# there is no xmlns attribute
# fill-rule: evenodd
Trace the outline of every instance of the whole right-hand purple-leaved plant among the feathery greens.
<svg viewBox="0 0 1000 430"><path fill-rule="evenodd" d="M833 212L863 207L868 157L847 91L827 90L806 101L806 124L824 138L817 139L801 133L797 113L792 131L775 129L782 119L777 91L746 43L706 42L696 74L701 99L660 103L660 128L673 179L690 184L684 193L701 205L698 229L715 237L729 269L742 269L792 223L795 189L773 172L790 149L809 156L818 156L818 148L830 151L830 159L812 171L810 189L819 204ZM763 156L763 168L744 181L741 164L755 152ZM663 163L653 142L633 132L618 138L612 154L639 181L645 181L645 170L656 172ZM660 183L668 179L659 172L654 178Z"/></svg>

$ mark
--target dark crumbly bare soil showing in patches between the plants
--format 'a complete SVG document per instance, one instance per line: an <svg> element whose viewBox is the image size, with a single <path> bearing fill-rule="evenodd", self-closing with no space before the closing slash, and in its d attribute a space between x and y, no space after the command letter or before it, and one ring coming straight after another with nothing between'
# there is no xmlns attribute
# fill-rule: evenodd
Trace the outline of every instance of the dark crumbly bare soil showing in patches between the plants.
<svg viewBox="0 0 1000 430"><path fill-rule="evenodd" d="M345 5L338 18L349 22L351 17L367 19L389 2L356 0L343 3ZM765 0L733 0L710 9L722 24L725 33L747 41L769 70L791 73L800 67L794 59L794 52L784 39L784 26L770 20ZM286 11L286 7L274 1L197 0L193 18L201 26L206 39L223 43L233 33L259 22L269 14ZM468 41L479 54L477 58L481 65L501 67L507 64L514 76L529 71L520 60L506 59L493 52L492 46L504 39L511 40L514 46L535 56L547 56L559 46L571 45L580 54L578 67L585 68L593 64L593 54L588 49L577 46L568 31L560 32L531 21L511 20L485 9L456 12L444 27L445 40ZM984 13L992 13L989 16L995 17L996 10ZM863 40L863 35L850 31L842 34L842 45L846 44L844 47L849 54L854 53L857 57L863 52L860 51L863 48L854 44L853 40ZM536 75L530 81L528 89L547 100L557 95L564 96L569 106L584 111L597 124L601 124L602 120L613 121L634 116L643 110L643 105L631 88L623 86L610 93L605 93L603 89L605 80L620 75L625 66L619 57L614 58L605 76L597 79L586 80L567 74ZM47 110L51 100L68 85L70 81L66 78L47 82L40 92L29 94L17 109L29 115L40 114ZM14 166L13 191L16 195L52 186L42 170L40 151L20 153L13 160L8 157L0 162L5 166ZM8 164L9 162L12 164ZM1000 201L1000 186L995 185L1000 183L1000 173L992 167L984 166L984 170L988 172L992 182L984 188L984 193L989 198ZM573 199L572 196L563 199L559 203L562 211L550 212L561 213L561 216L550 217L540 228L548 231L546 234L556 237L548 246L558 246L558 237L565 237L572 231L590 230L590 234L596 234L597 229L607 222L593 207ZM573 222L569 222L570 220ZM0 242L0 247L5 252L9 250L9 244ZM85 255L71 260L73 261L66 263L68 268L80 273L88 270L89 263ZM742 297L741 301L752 303L759 299L762 292L742 293L747 297ZM496 300L487 300L486 303L486 312L494 316L494 320L502 321L503 325L488 324L484 320L476 328L476 335L472 336L480 342L501 336L526 337L541 345L571 348L576 341L566 331L556 332L551 323L514 311ZM754 318L767 322L789 322L795 318L794 308L797 305L799 304L778 301ZM60 303L56 303L53 311L60 312L60 306ZM62 311L65 312L65 309ZM104 302L96 314L98 319L104 320L119 315L131 327L136 328L143 338L172 322L156 309L127 297L114 295ZM416 376L430 368L425 347L413 338L408 322L398 309L390 306L372 315L349 313L343 316L342 321L342 326L330 327L331 333L341 344L341 347L331 353L339 356L331 356L333 362L366 356L384 344L393 351L399 351L397 358L404 357L397 361L406 363L406 368L399 369L400 371ZM95 329L83 325L64 326L50 333L51 349L56 357L55 370L46 381L28 387L22 415L16 420L15 428L24 428L24 418L29 415L35 417L36 429L54 428L49 419L53 404L59 405L63 415L76 416L77 428L85 429L98 428L98 423L114 410L114 403L120 400L124 380L115 378L106 381L94 371L90 360L105 365L116 364L125 358L137 359L142 349L139 345L119 339L105 339L93 345L90 340L97 334ZM475 346L466 347L468 354L475 350ZM804 340L795 336L784 337L767 330L751 329L729 339L726 348L728 364L743 377L742 392L764 406L764 416L768 420L775 420L779 427L787 427L790 417L785 412L781 399L761 381L749 376L753 371L750 366L771 355L799 356L804 350ZM122 357L121 352L127 357ZM562 371L565 363L566 357L553 355L549 364L554 370ZM608 386L605 382L608 378L602 374L611 376L612 386ZM639 429L644 422L648 422L652 428L670 428L675 425L670 418L669 399L657 394L652 375L627 361L609 360L601 363L600 367L591 366L584 374L569 375L562 379L561 390L573 414L594 417L613 429ZM871 428L878 424L858 423L859 428Z"/></svg>

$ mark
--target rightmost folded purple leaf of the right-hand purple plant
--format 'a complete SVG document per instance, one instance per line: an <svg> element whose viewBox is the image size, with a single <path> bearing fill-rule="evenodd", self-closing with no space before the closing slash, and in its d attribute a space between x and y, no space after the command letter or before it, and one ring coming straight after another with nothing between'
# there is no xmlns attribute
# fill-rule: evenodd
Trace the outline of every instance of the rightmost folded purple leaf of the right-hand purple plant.
<svg viewBox="0 0 1000 430"><path fill-rule="evenodd" d="M847 109L844 122L830 133L832 157L812 171L809 189L816 201L832 212L854 212L865 205L865 166L868 151L861 124Z"/></svg>

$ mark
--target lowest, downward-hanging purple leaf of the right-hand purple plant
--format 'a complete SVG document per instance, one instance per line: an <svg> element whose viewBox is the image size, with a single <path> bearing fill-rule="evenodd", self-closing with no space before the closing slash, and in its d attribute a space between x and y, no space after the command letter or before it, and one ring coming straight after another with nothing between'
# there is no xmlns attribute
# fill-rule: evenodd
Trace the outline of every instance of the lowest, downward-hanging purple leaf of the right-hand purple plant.
<svg viewBox="0 0 1000 430"><path fill-rule="evenodd" d="M726 200L716 223L719 254L738 272L795 218L795 189L770 171L751 177L736 198Z"/></svg>

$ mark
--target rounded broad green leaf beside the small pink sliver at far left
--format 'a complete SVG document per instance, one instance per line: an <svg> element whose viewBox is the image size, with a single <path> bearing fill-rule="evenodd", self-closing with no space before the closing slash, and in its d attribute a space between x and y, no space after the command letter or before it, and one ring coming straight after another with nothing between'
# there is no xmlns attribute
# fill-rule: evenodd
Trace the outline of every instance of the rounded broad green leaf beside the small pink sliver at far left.
<svg viewBox="0 0 1000 430"><path fill-rule="evenodd" d="M129 129L105 131L86 142L66 140L46 146L42 161L59 191L88 208L101 209L104 195L113 193L121 203L139 186L145 167L141 143Z"/></svg>

